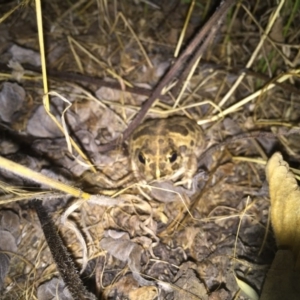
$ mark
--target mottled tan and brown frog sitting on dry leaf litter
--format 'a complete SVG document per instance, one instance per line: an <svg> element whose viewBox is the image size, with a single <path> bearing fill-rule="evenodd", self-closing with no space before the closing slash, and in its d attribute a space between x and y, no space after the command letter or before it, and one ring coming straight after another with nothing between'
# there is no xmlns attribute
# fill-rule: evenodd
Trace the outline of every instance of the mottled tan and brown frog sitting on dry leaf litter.
<svg viewBox="0 0 300 300"><path fill-rule="evenodd" d="M204 146L203 132L196 121L182 116L150 119L130 138L131 167L138 181L163 178L191 188Z"/></svg>

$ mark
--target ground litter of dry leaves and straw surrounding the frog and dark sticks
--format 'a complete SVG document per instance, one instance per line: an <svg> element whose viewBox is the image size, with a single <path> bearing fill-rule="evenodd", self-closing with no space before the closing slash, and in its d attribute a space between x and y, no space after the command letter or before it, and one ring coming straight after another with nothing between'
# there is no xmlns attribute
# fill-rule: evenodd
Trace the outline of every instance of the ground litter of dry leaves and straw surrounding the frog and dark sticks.
<svg viewBox="0 0 300 300"><path fill-rule="evenodd" d="M117 188L113 182L130 172L126 142L103 153L98 147L120 140L177 47L185 49L218 1L42 1L47 77L35 3L1 1L0 155L46 176L33 182L17 166L19 175L0 164L0 233L13 239L10 248L0 241L11 252L5 277L7 256L0 257L1 300L52 299L45 282L70 299L53 281L59 274L33 198L43 199L78 268L84 266L85 284L103 299L249 299L249 287L260 293L276 251L264 165L280 150L299 167L300 2L236 2L185 90L172 94L175 78L147 117L194 118L207 148L241 132L289 135L243 139L210 153L194 193L174 194L134 182ZM55 192L47 178L69 190ZM7 212L14 217L5 221ZM125 237L114 235L108 245L108 229ZM128 245L136 247L131 261Z"/></svg>

